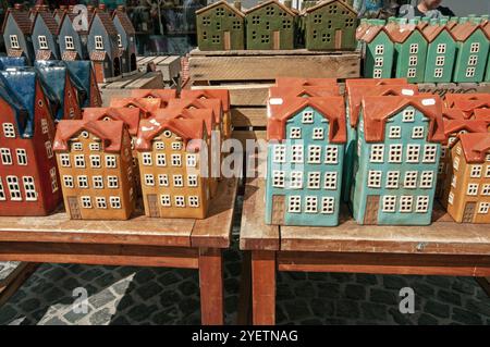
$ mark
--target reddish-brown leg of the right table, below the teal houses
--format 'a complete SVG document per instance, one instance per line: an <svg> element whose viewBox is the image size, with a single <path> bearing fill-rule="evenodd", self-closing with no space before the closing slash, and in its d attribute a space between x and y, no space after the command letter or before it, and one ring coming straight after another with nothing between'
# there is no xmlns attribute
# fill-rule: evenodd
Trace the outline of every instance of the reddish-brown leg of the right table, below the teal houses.
<svg viewBox="0 0 490 347"><path fill-rule="evenodd" d="M275 251L252 251L254 325L275 324Z"/></svg>

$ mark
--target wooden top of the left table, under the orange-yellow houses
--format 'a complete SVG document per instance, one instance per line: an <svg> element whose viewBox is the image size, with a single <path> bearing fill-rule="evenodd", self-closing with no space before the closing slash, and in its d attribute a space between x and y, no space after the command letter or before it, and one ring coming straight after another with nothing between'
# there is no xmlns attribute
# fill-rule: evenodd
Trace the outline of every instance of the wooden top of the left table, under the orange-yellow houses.
<svg viewBox="0 0 490 347"><path fill-rule="evenodd" d="M205 220L152 219L142 212L127 221L70 220L64 211L0 216L0 241L228 248L236 190L237 179L223 179Z"/></svg>

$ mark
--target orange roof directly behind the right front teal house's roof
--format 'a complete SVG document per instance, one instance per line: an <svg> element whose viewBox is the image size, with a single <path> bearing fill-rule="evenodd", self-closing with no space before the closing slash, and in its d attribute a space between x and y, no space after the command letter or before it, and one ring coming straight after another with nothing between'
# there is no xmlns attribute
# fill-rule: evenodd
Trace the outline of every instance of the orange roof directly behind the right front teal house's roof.
<svg viewBox="0 0 490 347"><path fill-rule="evenodd" d="M354 86L348 89L347 103L352 127L357 127L364 97L368 96L415 96L417 85Z"/></svg>

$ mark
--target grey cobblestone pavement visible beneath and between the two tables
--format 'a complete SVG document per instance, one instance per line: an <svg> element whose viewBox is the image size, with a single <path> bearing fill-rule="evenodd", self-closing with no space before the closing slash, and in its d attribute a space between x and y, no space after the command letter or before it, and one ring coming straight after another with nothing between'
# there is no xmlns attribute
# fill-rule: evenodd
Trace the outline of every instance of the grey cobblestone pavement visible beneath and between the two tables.
<svg viewBox="0 0 490 347"><path fill-rule="evenodd" d="M236 237L224 257L231 324L241 273ZM0 278L14 267L0 263ZM88 313L73 311L77 287L88 293ZM399 311L402 287L415 290L414 314ZM470 277L279 273L277 295L279 324L490 325L490 298ZM195 270L44 264L0 308L0 324L199 323Z"/></svg>

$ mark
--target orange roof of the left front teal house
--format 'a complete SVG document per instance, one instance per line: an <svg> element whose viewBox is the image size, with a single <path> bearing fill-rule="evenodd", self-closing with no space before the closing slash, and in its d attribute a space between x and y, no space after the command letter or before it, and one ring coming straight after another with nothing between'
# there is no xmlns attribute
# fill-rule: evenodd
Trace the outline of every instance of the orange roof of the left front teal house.
<svg viewBox="0 0 490 347"><path fill-rule="evenodd" d="M285 139L287 120L301 110L311 107L329 121L329 140L331 144L345 144L345 106L342 97L293 98L282 104L270 107L267 124L268 140Z"/></svg>

